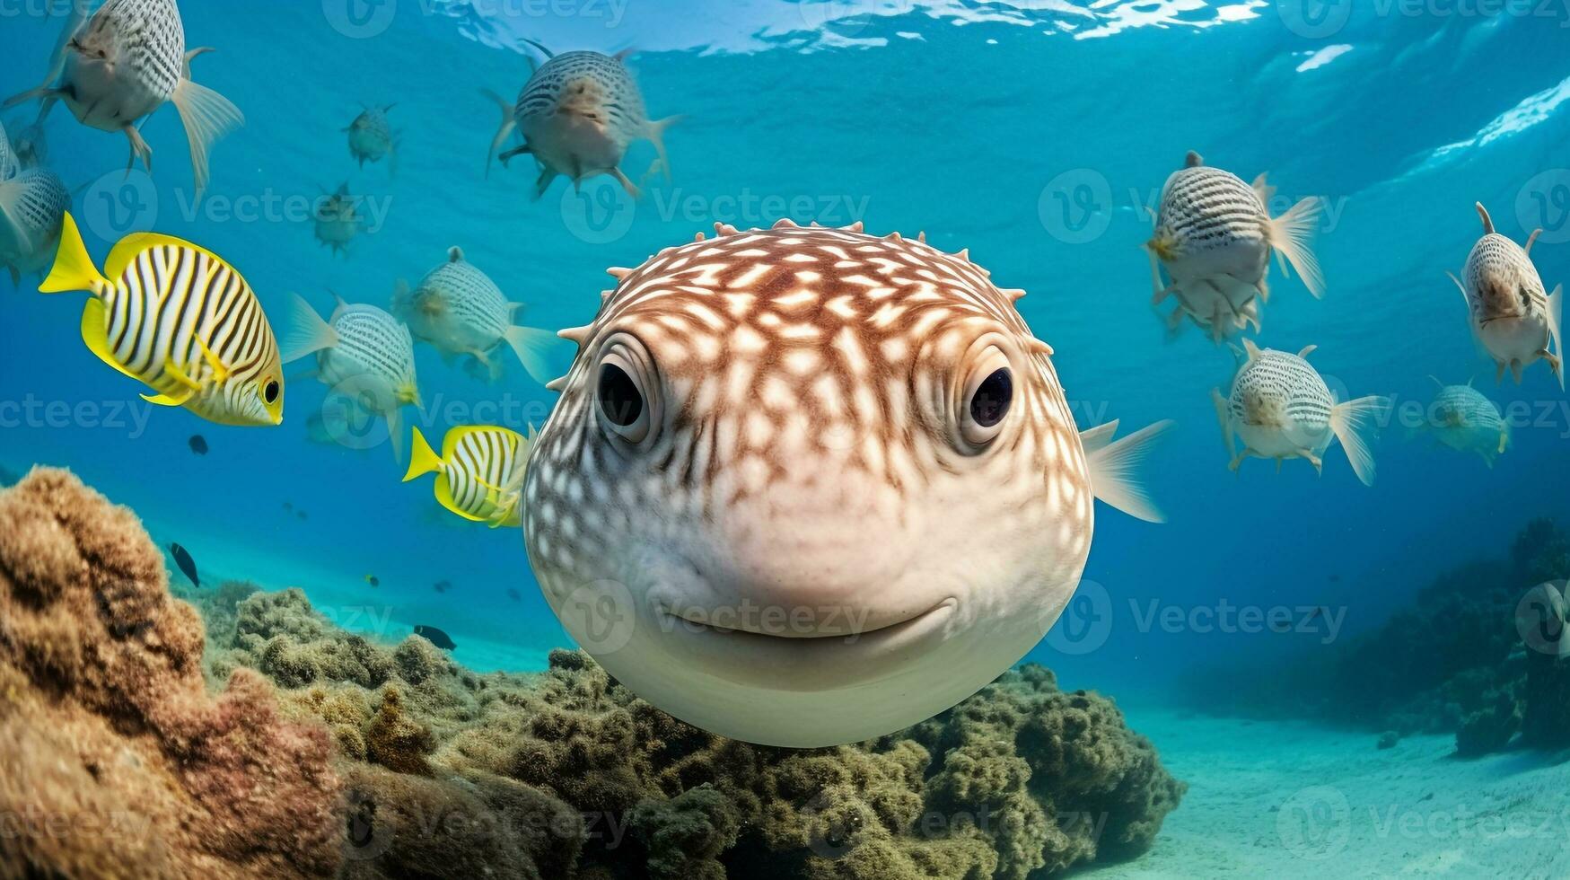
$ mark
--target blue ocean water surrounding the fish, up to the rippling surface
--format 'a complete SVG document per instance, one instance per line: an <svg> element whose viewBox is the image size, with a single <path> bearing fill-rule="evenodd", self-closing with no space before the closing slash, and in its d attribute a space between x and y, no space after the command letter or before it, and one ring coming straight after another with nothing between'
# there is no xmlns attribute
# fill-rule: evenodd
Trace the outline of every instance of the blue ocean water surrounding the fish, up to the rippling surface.
<svg viewBox="0 0 1570 880"><path fill-rule="evenodd" d="M47 124L49 163L75 190L96 258L135 228L196 240L245 272L279 325L290 292L323 311L330 292L385 306L399 278L416 281L452 245L548 328L593 314L608 266L636 266L716 220L864 220L970 248L999 284L1030 291L1020 311L1057 350L1082 427L1178 421L1146 471L1171 522L1101 508L1093 583L1031 652L1071 685L1157 699L1201 663L1286 655L1328 635L1217 632L1226 627L1209 621L1228 605L1344 607L1336 638L1369 630L1435 572L1562 514L1570 490L1565 394L1542 365L1496 387L1444 277L1479 234L1474 201L1518 242L1545 229L1532 256L1550 289L1570 277L1570 16L1309 6L187 0L188 42L217 47L195 79L246 116L214 148L203 201L168 108L143 129L151 176L127 176L124 138L63 110ZM42 77L63 17L42 0L5 11L9 94ZM633 50L650 115L683 116L667 135L672 179L652 178L636 203L608 179L581 193L557 181L531 201L528 162L487 176L498 112L480 90L517 93L529 75L523 38ZM360 168L342 127L386 104L396 171ZM14 132L31 113L3 119ZM1192 327L1167 339L1140 250L1145 206L1188 149L1245 179L1269 171L1284 200L1330 204L1316 242L1328 295L1316 302L1273 273L1262 344L1317 344L1313 363L1352 396L1426 402L1430 374L1476 377L1499 404L1526 407L1513 448L1488 468L1391 426L1374 487L1336 449L1324 475L1300 460L1229 473L1209 390L1225 388L1232 355ZM652 160L641 143L628 167ZM312 201L345 182L371 220L347 256L320 247L309 220ZM474 668L539 668L565 641L517 531L441 511L429 479L400 482L403 464L377 437L367 449L308 438L320 383L289 383L278 429L151 412L140 387L82 346L75 295L36 295L33 280L5 295L9 468L68 465L204 569L305 586L345 625L389 638L440 625ZM550 412L554 394L517 368L488 385L416 350L427 412L405 410L407 421L433 443L451 424L521 429ZM190 453L192 434L209 454ZM438 594L443 580L454 589ZM1168 607L1179 624L1149 622Z"/></svg>

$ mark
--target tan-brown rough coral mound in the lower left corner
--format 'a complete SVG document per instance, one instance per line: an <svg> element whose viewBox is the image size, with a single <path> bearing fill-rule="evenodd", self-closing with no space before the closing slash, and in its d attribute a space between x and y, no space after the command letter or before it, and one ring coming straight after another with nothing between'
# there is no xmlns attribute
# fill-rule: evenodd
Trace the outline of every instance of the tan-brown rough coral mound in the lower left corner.
<svg viewBox="0 0 1570 880"><path fill-rule="evenodd" d="M210 696L203 646L130 511L61 470L0 492L0 875L338 869L327 732L248 669Z"/></svg>

